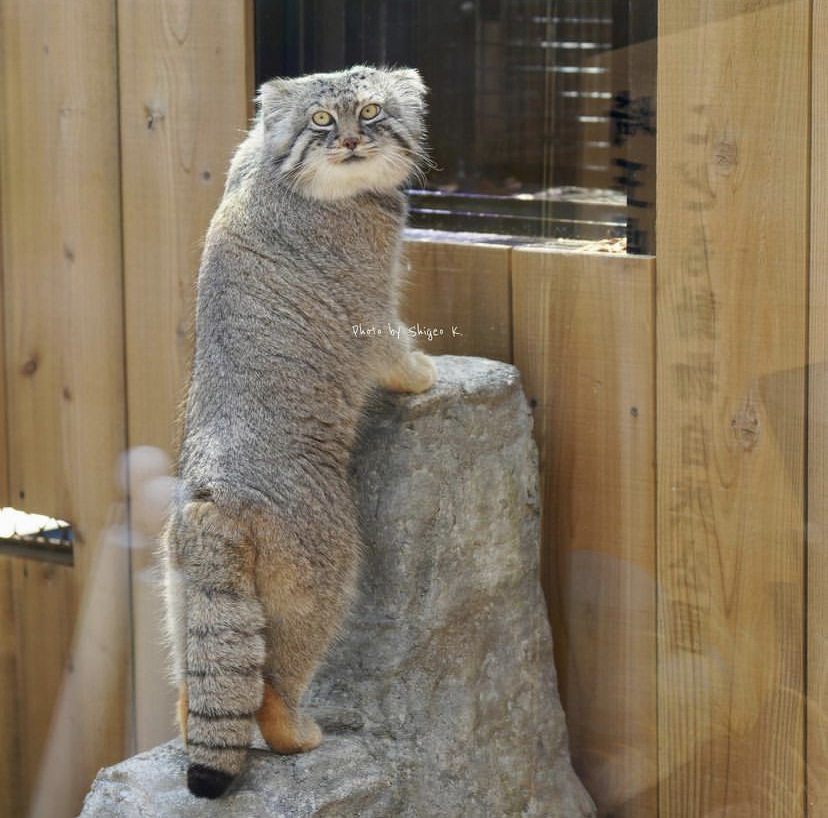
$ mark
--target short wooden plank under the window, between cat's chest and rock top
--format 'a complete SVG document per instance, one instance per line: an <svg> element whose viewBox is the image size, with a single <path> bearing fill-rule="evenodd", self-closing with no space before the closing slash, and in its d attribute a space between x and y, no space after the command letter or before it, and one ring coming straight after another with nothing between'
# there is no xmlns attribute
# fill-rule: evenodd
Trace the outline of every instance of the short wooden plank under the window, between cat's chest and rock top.
<svg viewBox="0 0 828 818"><path fill-rule="evenodd" d="M411 269L400 317L406 327L443 333L418 335L420 349L511 362L509 254L503 245L406 242Z"/></svg>

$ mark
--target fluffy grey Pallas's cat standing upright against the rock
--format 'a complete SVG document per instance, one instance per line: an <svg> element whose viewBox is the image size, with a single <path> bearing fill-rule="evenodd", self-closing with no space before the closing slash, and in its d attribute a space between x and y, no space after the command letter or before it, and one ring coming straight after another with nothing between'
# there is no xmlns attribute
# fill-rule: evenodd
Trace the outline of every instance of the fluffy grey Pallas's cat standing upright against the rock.
<svg viewBox="0 0 828 818"><path fill-rule="evenodd" d="M207 232L162 536L195 795L231 784L254 718L277 752L321 741L300 701L355 587L357 422L377 384L435 374L389 332L424 93L414 70L365 66L265 83Z"/></svg>

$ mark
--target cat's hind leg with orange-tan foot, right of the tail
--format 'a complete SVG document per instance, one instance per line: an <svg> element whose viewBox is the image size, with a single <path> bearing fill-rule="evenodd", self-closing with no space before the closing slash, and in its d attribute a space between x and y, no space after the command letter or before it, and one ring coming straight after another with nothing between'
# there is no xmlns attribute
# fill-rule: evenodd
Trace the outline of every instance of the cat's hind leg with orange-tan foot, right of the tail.
<svg viewBox="0 0 828 818"><path fill-rule="evenodd" d="M335 515L309 514L301 523L301 531L298 525L270 527L272 546L262 546L257 568L267 658L256 718L265 741L278 753L311 750L322 740L318 725L300 705L350 605L360 550L350 507Z"/></svg>

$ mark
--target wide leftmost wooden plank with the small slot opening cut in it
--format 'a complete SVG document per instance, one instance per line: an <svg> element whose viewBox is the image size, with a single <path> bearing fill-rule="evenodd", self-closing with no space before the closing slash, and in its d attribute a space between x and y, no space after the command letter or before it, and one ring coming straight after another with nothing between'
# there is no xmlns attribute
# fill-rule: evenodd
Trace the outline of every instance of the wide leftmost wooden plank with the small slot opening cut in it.
<svg viewBox="0 0 828 818"><path fill-rule="evenodd" d="M128 738L128 566L103 538L126 439L115 9L2 0L0 15L10 491L77 536L74 568L2 561L16 679L0 692L4 717L15 710L0 733L16 753L0 765L0 798L4 814L31 802L30 815L61 818ZM93 582L111 596L92 612L109 629L89 661L76 615Z"/></svg>

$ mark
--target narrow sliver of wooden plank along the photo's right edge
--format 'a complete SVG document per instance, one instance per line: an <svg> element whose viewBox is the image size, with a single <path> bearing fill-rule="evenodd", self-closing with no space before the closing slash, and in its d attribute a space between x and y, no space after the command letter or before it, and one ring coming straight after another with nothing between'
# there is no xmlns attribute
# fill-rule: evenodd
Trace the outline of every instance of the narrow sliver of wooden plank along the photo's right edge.
<svg viewBox="0 0 828 818"><path fill-rule="evenodd" d="M808 409L808 808L828 815L828 4L811 37L811 295Z"/></svg>

